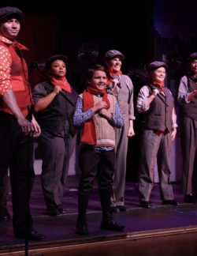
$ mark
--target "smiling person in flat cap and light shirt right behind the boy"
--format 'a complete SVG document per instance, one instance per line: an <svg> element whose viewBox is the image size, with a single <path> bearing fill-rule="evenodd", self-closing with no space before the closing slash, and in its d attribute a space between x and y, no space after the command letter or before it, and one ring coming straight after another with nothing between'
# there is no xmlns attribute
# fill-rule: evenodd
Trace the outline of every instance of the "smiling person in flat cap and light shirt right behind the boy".
<svg viewBox="0 0 197 256"><path fill-rule="evenodd" d="M111 79L108 88L113 96L117 97L124 126L115 129L116 132L116 168L113 179L113 195L111 199L111 211L125 212L125 179L127 168L128 137L135 135L133 130L134 107L133 107L133 85L131 79L122 74L121 65L125 56L121 51L110 50L104 57L110 71Z"/></svg>

